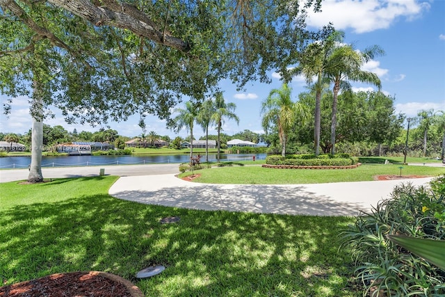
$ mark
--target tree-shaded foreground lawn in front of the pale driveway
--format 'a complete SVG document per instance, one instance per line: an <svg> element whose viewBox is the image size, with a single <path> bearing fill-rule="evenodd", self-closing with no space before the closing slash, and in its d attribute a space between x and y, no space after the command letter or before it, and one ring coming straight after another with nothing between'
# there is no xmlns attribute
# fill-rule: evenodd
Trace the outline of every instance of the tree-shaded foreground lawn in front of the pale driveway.
<svg viewBox="0 0 445 297"><path fill-rule="evenodd" d="M218 170L209 170L218 171ZM359 296L347 217L197 211L118 200L117 177L0 184L0 286L107 271L146 296ZM179 223L159 220L179 216ZM161 264L163 273L137 280Z"/></svg>

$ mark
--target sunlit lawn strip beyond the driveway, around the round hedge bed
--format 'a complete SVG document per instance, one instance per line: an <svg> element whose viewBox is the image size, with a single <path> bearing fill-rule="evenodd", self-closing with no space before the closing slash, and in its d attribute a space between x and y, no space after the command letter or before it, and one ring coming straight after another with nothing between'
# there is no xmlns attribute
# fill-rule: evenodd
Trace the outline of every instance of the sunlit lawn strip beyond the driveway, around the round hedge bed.
<svg viewBox="0 0 445 297"><path fill-rule="evenodd" d="M429 166L401 166L396 164L363 164L354 169L276 169L261 166L226 166L194 170L200 177L193 182L208 184L319 184L327 182L362 182L372 181L376 175L421 175L437 176L445 168ZM184 172L179 177L191 175Z"/></svg>

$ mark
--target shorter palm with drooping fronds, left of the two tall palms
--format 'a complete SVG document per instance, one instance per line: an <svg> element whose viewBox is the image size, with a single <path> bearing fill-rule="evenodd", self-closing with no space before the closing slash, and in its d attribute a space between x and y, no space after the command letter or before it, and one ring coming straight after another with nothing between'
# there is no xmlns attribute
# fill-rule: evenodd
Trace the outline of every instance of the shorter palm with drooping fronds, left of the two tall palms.
<svg viewBox="0 0 445 297"><path fill-rule="evenodd" d="M262 125L267 131L270 125L276 125L280 144L282 145L282 156L286 155L287 134L291 127L300 119L302 125L307 120L307 110L299 102L292 102L291 88L283 83L282 88L273 89L268 97L261 104L261 114L263 115Z"/></svg>

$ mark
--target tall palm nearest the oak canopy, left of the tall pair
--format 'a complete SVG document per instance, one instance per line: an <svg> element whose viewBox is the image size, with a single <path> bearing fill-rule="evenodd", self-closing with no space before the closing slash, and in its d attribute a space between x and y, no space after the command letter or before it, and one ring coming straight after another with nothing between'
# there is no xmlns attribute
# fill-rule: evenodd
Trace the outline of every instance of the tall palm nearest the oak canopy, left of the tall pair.
<svg viewBox="0 0 445 297"><path fill-rule="evenodd" d="M343 33L335 31L325 40L314 42L308 45L305 50L300 53L299 65L290 70L291 76L302 75L308 84L312 84L314 77L316 82L314 88L315 96L315 115L314 115L314 148L315 154L320 154L320 134L321 134L321 93L323 90L323 82L325 82L326 73L329 72L329 57L337 42L341 42Z"/></svg>

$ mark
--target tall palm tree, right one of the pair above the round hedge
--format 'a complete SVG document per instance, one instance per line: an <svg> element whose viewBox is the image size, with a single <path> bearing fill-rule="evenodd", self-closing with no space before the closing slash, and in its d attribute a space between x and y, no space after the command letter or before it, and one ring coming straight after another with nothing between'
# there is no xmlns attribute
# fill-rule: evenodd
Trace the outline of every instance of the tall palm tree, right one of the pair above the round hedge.
<svg viewBox="0 0 445 297"><path fill-rule="evenodd" d="M341 36L341 35L340 35ZM336 127L337 127L337 97L340 89L350 91L349 81L361 81L370 83L381 88L381 82L377 74L361 70L361 67L371 61L375 56L383 54L384 51L378 47L370 47L365 51L356 51L350 45L337 43L334 49L327 56L325 74L331 83L334 83L332 90L332 121L331 121L331 153L335 154Z"/></svg>

